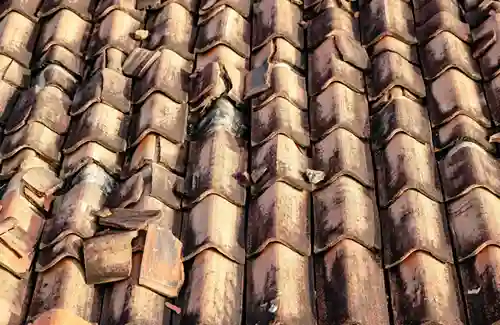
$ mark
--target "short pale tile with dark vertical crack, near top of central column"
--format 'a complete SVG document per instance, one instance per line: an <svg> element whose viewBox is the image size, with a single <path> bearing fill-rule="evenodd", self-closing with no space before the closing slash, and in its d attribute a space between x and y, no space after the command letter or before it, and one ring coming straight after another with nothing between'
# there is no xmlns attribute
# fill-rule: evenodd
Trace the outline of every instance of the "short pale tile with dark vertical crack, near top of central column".
<svg viewBox="0 0 500 325"><path fill-rule="evenodd" d="M252 69L256 69L265 62L283 62L299 71L305 70L306 53L301 53L284 38L275 38L258 49L252 56Z"/></svg>

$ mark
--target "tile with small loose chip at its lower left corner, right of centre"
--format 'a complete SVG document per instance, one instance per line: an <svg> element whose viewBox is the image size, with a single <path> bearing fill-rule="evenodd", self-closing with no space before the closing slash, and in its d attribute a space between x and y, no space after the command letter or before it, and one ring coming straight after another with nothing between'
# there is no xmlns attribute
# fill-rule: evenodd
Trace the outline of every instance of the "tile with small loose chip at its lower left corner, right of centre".
<svg viewBox="0 0 500 325"><path fill-rule="evenodd" d="M370 146L348 130L331 132L314 144L312 151L312 168L325 173L324 181L317 186L340 176L352 177L366 187L375 186Z"/></svg>

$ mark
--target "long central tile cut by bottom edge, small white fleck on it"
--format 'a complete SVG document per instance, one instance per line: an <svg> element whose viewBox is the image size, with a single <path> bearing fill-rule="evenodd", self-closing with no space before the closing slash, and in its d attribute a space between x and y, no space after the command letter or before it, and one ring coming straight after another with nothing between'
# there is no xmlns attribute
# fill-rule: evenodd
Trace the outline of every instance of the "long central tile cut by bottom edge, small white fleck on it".
<svg viewBox="0 0 500 325"><path fill-rule="evenodd" d="M279 243L247 264L246 324L315 325L309 259Z"/></svg>

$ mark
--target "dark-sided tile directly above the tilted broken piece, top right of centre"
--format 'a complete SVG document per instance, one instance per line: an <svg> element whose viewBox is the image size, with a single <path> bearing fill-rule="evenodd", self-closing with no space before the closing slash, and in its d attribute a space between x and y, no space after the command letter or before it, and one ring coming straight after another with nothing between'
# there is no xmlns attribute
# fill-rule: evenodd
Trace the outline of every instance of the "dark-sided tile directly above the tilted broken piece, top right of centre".
<svg viewBox="0 0 500 325"><path fill-rule="evenodd" d="M307 27L307 47L314 49L334 35L360 42L358 19L336 6L326 8L311 19Z"/></svg>

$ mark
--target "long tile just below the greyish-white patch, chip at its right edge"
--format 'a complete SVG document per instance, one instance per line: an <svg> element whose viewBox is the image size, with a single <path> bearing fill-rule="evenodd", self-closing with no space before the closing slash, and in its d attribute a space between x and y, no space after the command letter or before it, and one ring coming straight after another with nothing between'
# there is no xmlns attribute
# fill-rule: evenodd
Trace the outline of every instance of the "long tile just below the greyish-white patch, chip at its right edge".
<svg viewBox="0 0 500 325"><path fill-rule="evenodd" d="M246 189L236 175L247 168L246 144L224 129L215 129L190 142L185 195L192 206L210 194L217 194L244 206Z"/></svg>

